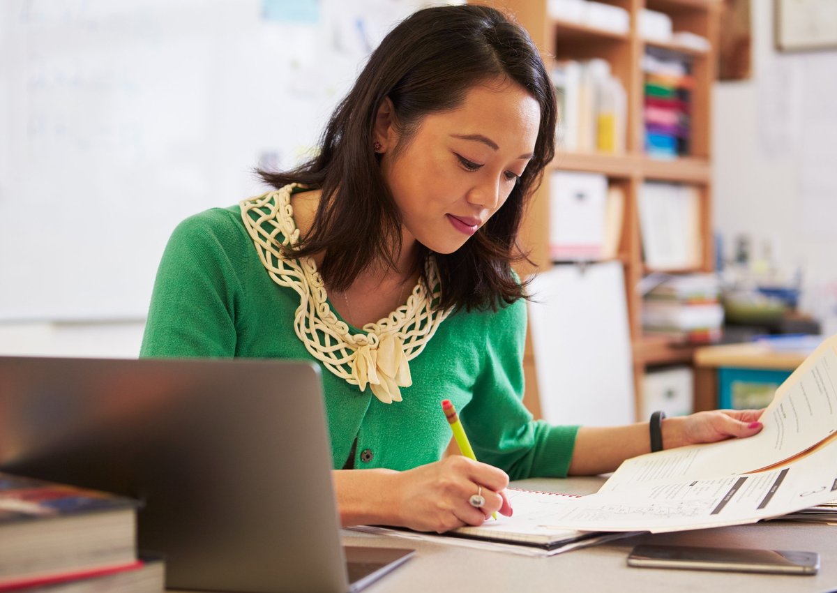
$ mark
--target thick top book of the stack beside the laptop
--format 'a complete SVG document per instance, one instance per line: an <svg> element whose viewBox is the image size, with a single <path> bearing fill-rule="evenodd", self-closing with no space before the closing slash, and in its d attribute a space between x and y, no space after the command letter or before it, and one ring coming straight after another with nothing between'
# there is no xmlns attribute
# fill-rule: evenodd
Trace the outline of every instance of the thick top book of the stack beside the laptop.
<svg viewBox="0 0 837 593"><path fill-rule="evenodd" d="M0 473L0 587L135 563L135 501Z"/></svg>

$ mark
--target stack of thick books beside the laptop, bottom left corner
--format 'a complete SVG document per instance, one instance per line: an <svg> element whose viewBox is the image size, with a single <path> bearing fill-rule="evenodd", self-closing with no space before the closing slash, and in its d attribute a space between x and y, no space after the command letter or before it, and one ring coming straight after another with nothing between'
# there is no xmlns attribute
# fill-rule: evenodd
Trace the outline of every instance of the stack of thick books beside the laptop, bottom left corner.
<svg viewBox="0 0 837 593"><path fill-rule="evenodd" d="M0 473L0 591L160 593L159 556L136 553L136 503Z"/></svg>

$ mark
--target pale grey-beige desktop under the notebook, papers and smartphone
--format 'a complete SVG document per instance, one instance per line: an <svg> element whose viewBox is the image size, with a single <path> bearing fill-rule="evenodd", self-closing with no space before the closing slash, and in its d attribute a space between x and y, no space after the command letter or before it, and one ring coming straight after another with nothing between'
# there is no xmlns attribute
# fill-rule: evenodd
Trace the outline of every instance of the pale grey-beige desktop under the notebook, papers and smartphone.
<svg viewBox="0 0 837 593"><path fill-rule="evenodd" d="M553 492L595 492L603 478L532 479L513 485ZM735 591L736 593L824 593L837 589L837 527L804 523L757 523L679 534L642 535L579 549L551 558L532 558L457 545L418 542L384 535L343 532L345 544L418 549L407 564L372 584L367 593L446 593L447 591ZM808 549L820 554L816 576L747 575L629 568L629 550L638 543L718 545L742 548Z"/></svg>

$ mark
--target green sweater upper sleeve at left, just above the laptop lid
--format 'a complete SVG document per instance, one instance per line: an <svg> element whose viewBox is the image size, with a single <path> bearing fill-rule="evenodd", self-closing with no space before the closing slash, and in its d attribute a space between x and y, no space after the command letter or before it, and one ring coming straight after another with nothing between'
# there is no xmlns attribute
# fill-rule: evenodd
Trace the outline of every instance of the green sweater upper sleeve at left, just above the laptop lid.
<svg viewBox="0 0 837 593"><path fill-rule="evenodd" d="M207 210L177 226L157 270L141 357L235 355L248 246L230 210Z"/></svg>

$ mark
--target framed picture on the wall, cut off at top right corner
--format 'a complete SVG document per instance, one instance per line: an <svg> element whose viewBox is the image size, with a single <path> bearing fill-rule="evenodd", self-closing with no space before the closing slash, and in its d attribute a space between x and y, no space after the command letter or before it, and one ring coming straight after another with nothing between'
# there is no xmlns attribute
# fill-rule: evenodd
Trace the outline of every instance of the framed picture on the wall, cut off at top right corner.
<svg viewBox="0 0 837 593"><path fill-rule="evenodd" d="M773 20L779 51L837 49L834 0L773 0Z"/></svg>

